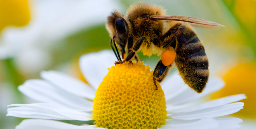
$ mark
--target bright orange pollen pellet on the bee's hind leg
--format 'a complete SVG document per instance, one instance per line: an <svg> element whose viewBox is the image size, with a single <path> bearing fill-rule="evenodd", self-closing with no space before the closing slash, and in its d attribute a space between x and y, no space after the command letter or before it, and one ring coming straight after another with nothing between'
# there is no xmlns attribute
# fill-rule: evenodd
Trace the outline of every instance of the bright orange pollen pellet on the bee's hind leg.
<svg viewBox="0 0 256 129"><path fill-rule="evenodd" d="M169 50L165 50L161 54L161 60L164 66L169 66L170 64L173 64L176 57L175 49L171 48Z"/></svg>

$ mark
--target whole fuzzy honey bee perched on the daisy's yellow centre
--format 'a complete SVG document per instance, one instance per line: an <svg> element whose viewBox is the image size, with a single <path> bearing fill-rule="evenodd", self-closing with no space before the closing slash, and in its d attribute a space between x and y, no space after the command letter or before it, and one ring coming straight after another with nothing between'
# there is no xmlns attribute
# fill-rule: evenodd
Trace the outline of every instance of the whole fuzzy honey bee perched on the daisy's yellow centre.
<svg viewBox="0 0 256 129"><path fill-rule="evenodd" d="M119 60L115 64L138 61L136 52L140 50L148 56L161 55L153 73L156 90L156 81L160 82L175 62L185 84L201 93L209 77L208 58L189 22L224 27L199 18L166 15L163 8L144 3L132 5L126 16L113 11L107 17L106 28L111 36L110 45L113 41L117 51L112 47ZM121 60L116 45L125 60Z"/></svg>

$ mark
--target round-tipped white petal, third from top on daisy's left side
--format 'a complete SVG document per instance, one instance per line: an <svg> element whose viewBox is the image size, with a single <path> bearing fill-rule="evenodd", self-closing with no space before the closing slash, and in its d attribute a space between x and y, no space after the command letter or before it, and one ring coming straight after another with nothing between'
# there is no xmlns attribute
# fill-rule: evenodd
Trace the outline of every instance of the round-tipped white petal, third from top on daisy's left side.
<svg viewBox="0 0 256 129"><path fill-rule="evenodd" d="M92 101L54 87L44 80L27 80L18 89L31 99L39 102L59 104L82 111L92 111Z"/></svg>

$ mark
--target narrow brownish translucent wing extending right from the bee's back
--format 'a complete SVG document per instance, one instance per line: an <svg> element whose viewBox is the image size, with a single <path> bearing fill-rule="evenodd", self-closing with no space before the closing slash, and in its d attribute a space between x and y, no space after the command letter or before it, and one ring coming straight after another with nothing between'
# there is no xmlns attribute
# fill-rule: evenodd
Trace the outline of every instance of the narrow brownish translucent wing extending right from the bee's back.
<svg viewBox="0 0 256 129"><path fill-rule="evenodd" d="M202 25L225 27L224 25L221 25L216 22L211 22L208 20L203 20L203 19L194 18L194 17L178 16L178 15L156 15L156 16L150 16L150 18L155 20L174 20L174 21L190 22L190 23L202 24Z"/></svg>

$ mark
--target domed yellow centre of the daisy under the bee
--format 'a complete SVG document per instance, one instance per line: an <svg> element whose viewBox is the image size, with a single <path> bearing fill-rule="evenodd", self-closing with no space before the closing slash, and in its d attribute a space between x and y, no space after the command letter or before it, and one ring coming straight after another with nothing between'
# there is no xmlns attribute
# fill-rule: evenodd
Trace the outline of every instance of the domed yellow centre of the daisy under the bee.
<svg viewBox="0 0 256 129"><path fill-rule="evenodd" d="M93 120L109 129L156 129L164 124L166 102L153 71L143 62L109 68L93 101Z"/></svg>

